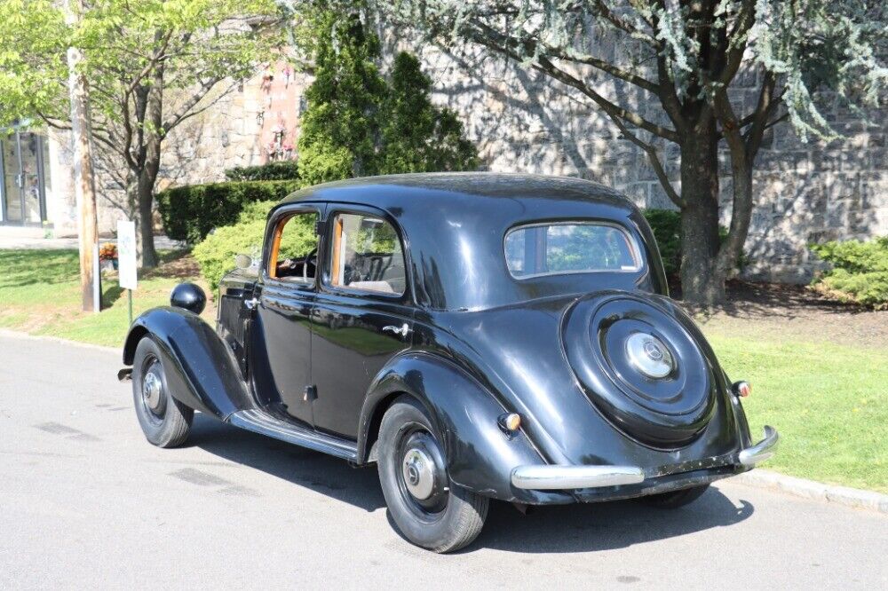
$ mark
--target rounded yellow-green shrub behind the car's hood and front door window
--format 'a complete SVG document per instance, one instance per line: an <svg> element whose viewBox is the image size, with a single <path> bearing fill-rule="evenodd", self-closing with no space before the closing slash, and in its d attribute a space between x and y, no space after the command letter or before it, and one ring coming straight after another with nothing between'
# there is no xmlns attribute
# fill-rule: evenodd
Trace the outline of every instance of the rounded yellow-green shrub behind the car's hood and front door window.
<svg viewBox="0 0 888 591"><path fill-rule="evenodd" d="M201 267L203 278L216 290L219 281L234 269L234 256L259 256L265 238L266 219L275 201L249 203L234 225L218 228L194 247L192 254ZM284 229L281 257L305 256L317 242L314 225L306 217L297 217Z"/></svg>

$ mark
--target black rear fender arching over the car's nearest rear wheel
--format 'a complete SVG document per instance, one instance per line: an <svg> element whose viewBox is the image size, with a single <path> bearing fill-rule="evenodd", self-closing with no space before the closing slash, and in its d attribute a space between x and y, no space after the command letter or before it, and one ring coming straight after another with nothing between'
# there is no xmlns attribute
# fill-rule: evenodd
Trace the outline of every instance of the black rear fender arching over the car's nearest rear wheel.
<svg viewBox="0 0 888 591"><path fill-rule="evenodd" d="M443 437L450 479L474 493L528 504L572 502L567 493L511 485L512 469L545 463L523 431L508 436L497 425L506 412L478 382L447 359L405 353L392 359L370 385L358 427L358 458L367 461L368 441L385 406L406 393L421 402ZM372 442L371 442L372 443Z"/></svg>

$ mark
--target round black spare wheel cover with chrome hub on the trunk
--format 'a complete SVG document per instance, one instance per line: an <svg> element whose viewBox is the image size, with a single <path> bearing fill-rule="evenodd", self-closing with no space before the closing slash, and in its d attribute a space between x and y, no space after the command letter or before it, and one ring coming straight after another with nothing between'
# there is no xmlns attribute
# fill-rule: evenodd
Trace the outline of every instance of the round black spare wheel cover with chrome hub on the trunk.
<svg viewBox="0 0 888 591"><path fill-rule="evenodd" d="M712 416L710 364L676 317L651 298L607 293L565 311L562 340L593 405L654 447L694 440Z"/></svg>

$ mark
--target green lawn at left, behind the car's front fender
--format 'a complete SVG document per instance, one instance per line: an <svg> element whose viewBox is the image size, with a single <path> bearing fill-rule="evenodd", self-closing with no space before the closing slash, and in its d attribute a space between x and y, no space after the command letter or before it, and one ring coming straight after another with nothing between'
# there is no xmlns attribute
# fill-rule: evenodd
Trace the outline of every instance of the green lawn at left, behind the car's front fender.
<svg viewBox="0 0 888 591"><path fill-rule="evenodd" d="M195 280L183 253L163 252L163 264L139 277L133 314L170 303L170 290ZM100 314L80 309L80 280L75 250L0 250L0 327L33 335L120 346L128 325L126 294L111 274L102 280ZM204 316L212 318L212 307Z"/></svg>

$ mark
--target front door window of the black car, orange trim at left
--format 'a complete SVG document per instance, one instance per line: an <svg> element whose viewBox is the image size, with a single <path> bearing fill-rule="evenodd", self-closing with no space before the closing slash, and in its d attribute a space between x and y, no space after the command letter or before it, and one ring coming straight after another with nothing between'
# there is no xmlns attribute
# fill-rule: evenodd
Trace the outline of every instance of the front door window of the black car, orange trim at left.
<svg viewBox="0 0 888 591"><path fill-rule="evenodd" d="M278 223L272 236L268 276L278 280L313 282L317 275L317 212L297 213Z"/></svg>

